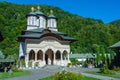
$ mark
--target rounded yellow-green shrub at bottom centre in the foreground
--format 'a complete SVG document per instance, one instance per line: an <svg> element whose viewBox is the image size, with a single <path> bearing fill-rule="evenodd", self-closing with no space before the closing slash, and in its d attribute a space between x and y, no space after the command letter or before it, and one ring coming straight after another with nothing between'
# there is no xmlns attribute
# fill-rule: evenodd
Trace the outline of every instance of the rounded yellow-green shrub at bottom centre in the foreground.
<svg viewBox="0 0 120 80"><path fill-rule="evenodd" d="M61 71L54 75L54 80L83 80L83 76L81 74Z"/></svg>

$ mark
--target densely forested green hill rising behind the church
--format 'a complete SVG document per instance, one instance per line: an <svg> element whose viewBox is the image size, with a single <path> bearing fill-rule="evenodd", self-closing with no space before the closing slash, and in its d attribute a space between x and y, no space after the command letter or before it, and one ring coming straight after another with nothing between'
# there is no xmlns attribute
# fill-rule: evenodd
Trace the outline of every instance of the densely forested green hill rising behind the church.
<svg viewBox="0 0 120 80"><path fill-rule="evenodd" d="M4 37L4 40L0 43L0 49L7 58L18 55L19 43L17 37L22 30L26 29L26 14L31 11L32 6L37 7L37 5L0 2L0 31ZM117 25L120 22L104 24L101 20L70 14L58 7L40 6L44 14L48 14L50 9L54 10L54 15L58 18L60 32L79 39L72 43L72 52L94 52L95 45L107 49L120 40L120 25Z"/></svg>

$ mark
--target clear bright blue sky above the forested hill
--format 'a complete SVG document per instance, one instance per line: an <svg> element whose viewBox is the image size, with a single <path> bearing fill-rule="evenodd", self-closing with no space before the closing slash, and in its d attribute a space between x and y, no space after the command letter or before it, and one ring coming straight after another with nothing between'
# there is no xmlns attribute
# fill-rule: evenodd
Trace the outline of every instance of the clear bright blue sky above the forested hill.
<svg viewBox="0 0 120 80"><path fill-rule="evenodd" d="M46 4L104 23L120 19L120 0L0 0L17 4Z"/></svg>

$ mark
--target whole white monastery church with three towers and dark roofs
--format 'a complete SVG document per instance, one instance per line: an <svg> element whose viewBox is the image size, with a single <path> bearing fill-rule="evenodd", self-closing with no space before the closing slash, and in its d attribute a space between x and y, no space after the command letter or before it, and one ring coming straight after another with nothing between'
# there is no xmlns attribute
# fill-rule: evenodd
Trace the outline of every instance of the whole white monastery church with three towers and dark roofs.
<svg viewBox="0 0 120 80"><path fill-rule="evenodd" d="M25 60L25 67L29 67L29 62L32 67L36 62L39 67L67 66L70 63L70 43L76 39L58 31L57 18L52 10L49 15L41 12L39 6L36 11L33 7L31 10L32 12L26 15L27 28L18 37L19 58Z"/></svg>

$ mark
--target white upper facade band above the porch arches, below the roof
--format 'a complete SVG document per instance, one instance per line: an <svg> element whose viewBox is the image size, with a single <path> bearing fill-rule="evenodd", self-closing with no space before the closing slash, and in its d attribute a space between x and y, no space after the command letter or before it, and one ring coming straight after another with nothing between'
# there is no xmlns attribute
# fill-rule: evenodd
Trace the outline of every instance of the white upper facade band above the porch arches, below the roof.
<svg viewBox="0 0 120 80"><path fill-rule="evenodd" d="M47 51L48 49L52 49L54 53L57 50L60 50L61 53L63 53L64 50L69 52L70 46L68 44L61 44L58 42L55 38L49 39L49 38L44 38L41 40L37 39L29 39L26 40L27 44L27 52L30 52L30 50L34 50L35 52L38 52L39 50L42 50L43 52Z"/></svg>

